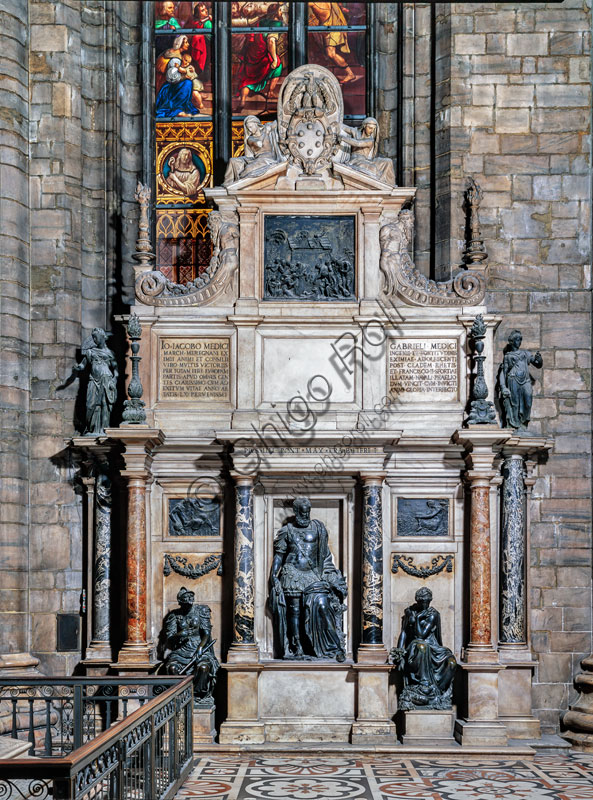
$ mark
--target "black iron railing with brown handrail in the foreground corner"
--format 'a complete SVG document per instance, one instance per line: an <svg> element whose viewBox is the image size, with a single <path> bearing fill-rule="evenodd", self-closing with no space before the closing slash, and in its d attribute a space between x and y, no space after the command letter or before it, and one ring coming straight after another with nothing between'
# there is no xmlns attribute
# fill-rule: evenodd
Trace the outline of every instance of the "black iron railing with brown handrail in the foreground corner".
<svg viewBox="0 0 593 800"><path fill-rule="evenodd" d="M36 754L0 760L2 800L166 800L191 769L191 677L4 679L0 697Z"/></svg>

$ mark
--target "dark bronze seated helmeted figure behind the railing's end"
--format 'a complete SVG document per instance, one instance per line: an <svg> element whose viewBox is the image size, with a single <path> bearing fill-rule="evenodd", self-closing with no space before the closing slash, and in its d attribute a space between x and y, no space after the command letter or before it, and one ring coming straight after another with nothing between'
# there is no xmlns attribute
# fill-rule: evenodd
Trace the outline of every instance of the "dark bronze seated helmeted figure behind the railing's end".
<svg viewBox="0 0 593 800"><path fill-rule="evenodd" d="M214 655L214 639L208 606L194 605L195 595L182 587L179 608L165 617L163 637L168 654L163 668L169 675L194 676L196 701L210 700L220 664Z"/></svg>

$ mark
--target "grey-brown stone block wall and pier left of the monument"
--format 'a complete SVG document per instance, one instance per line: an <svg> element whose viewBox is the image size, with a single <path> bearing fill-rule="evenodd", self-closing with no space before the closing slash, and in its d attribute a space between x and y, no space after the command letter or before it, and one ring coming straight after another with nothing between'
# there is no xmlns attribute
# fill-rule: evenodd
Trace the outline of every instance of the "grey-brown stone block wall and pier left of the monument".
<svg viewBox="0 0 593 800"><path fill-rule="evenodd" d="M78 381L60 387L92 328L111 329L114 296L122 306L142 169L141 13L111 0L7 0L1 12L0 650L28 650L49 673L80 659L55 653L56 614L80 612L84 564L65 448L84 409Z"/></svg>

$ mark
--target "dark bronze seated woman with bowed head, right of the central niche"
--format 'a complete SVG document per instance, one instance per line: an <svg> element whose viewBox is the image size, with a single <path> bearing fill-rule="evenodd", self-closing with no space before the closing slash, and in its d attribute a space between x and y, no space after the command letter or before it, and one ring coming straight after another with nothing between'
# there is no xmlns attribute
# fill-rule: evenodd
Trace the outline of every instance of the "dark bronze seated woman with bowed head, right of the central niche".
<svg viewBox="0 0 593 800"><path fill-rule="evenodd" d="M449 709L457 661L441 639L441 615L431 608L432 592L423 587L404 611L397 647L389 660L403 672L400 711Z"/></svg>

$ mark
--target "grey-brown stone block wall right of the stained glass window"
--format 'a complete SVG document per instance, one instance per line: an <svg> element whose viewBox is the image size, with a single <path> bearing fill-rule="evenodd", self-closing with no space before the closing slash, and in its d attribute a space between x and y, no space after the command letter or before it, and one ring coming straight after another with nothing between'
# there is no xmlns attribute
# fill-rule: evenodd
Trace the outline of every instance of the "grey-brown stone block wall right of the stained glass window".
<svg viewBox="0 0 593 800"><path fill-rule="evenodd" d="M554 437L531 506L534 709L556 730L591 651L589 4L452 4L451 187L484 190L488 307L539 349L536 433ZM453 237L463 236L451 204Z"/></svg>

